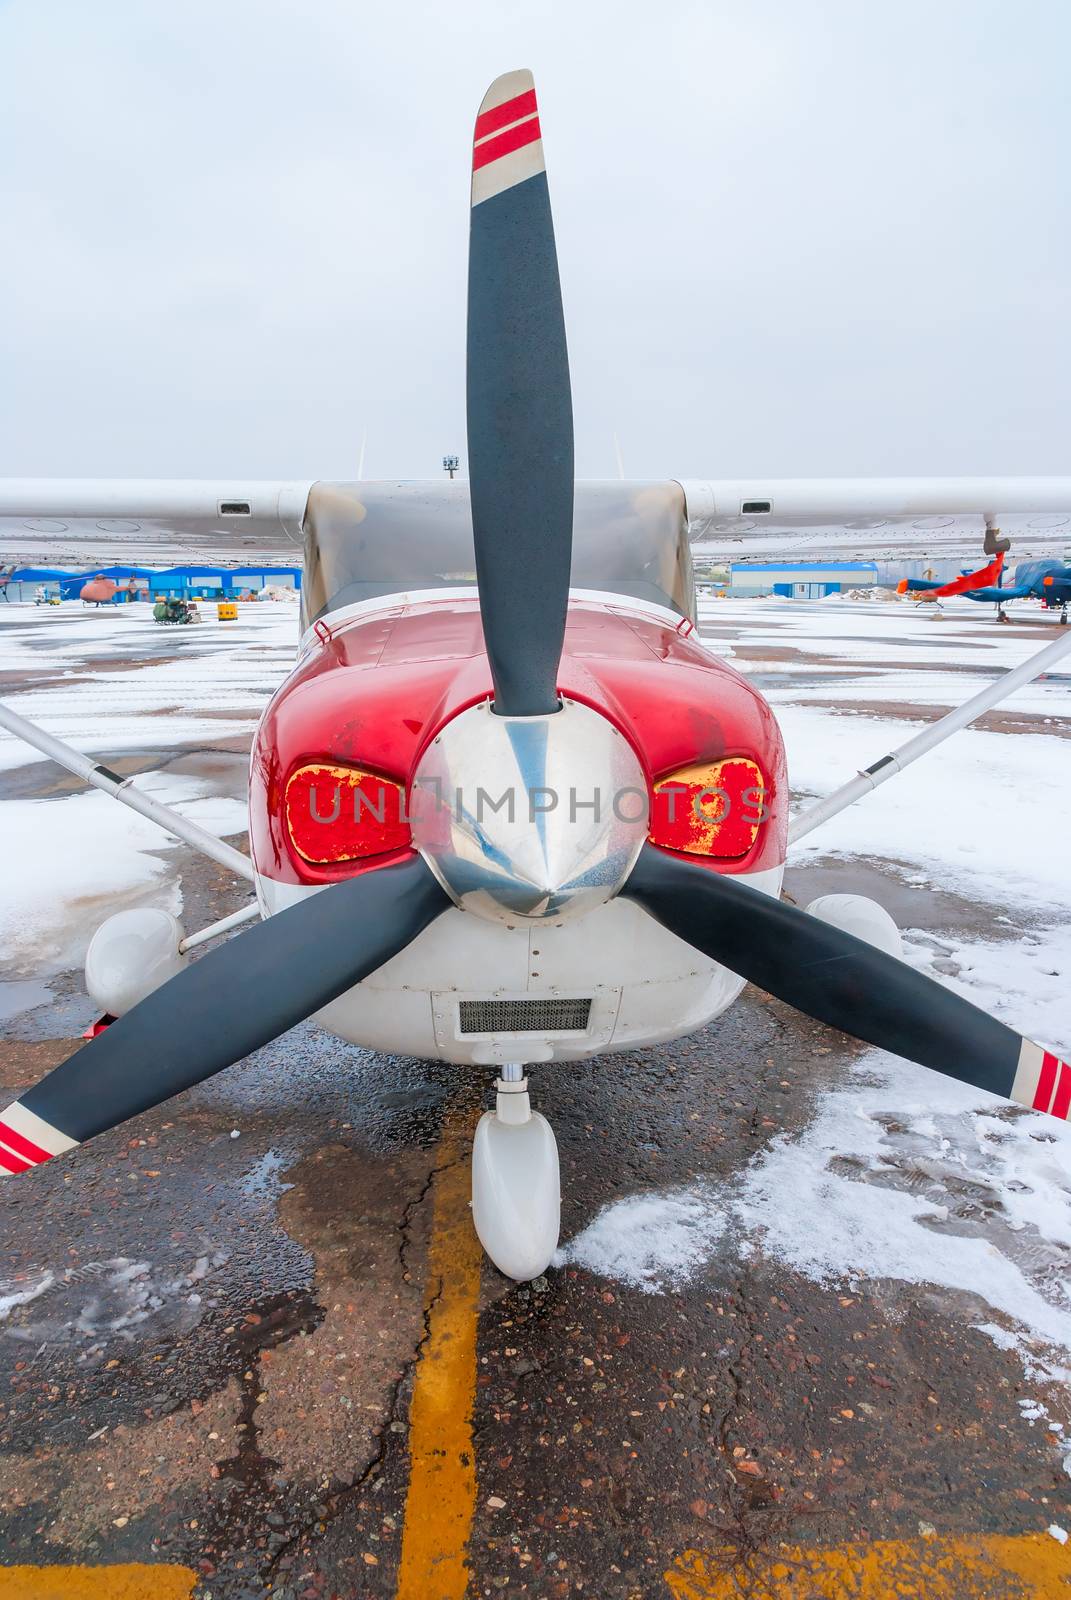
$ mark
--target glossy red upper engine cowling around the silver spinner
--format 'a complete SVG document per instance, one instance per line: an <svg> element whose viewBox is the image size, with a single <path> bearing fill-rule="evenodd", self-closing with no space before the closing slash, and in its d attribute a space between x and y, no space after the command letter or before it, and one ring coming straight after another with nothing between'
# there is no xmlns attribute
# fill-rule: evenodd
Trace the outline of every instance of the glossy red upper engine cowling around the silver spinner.
<svg viewBox="0 0 1071 1600"><path fill-rule="evenodd" d="M636 749L650 837L719 872L784 861L784 749L764 698L693 637L628 602L570 603L560 693ZM331 627L271 701L250 771L259 874L331 883L411 850L405 792L424 746L491 694L475 598L384 606Z"/></svg>

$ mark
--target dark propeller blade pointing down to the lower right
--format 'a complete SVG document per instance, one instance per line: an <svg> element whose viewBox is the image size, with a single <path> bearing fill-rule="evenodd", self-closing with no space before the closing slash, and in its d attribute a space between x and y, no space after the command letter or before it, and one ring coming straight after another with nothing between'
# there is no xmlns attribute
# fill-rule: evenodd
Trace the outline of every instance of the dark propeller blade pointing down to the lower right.
<svg viewBox="0 0 1071 1600"><path fill-rule="evenodd" d="M679 939L797 1011L1066 1120L1071 1064L863 939L650 843L621 893Z"/></svg>

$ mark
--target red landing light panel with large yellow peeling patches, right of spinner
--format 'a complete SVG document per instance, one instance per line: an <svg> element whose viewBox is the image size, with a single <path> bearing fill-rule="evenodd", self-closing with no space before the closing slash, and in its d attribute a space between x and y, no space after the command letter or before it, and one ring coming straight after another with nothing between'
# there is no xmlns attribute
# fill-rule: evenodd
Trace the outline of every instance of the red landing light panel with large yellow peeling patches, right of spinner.
<svg viewBox="0 0 1071 1600"><path fill-rule="evenodd" d="M684 766L660 778L648 838L688 856L740 861L767 819L762 770L741 755Z"/></svg>

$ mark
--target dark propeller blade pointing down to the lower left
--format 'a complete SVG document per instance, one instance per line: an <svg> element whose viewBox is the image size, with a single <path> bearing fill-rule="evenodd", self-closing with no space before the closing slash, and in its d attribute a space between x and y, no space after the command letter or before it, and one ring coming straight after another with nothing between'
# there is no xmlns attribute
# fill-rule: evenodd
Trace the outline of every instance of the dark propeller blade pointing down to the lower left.
<svg viewBox="0 0 1071 1600"><path fill-rule="evenodd" d="M203 955L0 1115L0 1176L202 1083L375 973L451 901L419 856L346 878Z"/></svg>

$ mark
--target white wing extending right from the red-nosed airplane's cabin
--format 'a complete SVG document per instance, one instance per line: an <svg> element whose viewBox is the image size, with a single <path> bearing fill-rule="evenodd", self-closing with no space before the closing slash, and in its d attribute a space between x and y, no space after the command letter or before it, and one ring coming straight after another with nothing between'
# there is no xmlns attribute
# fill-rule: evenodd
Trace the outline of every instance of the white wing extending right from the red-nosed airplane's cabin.
<svg viewBox="0 0 1071 1600"><path fill-rule="evenodd" d="M977 557L986 522L1012 558L1071 547L1071 477L680 478L688 536L709 555Z"/></svg>

